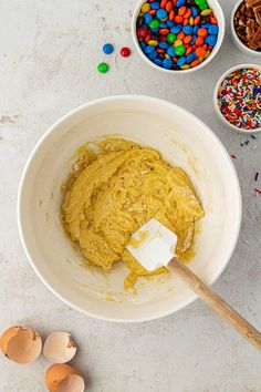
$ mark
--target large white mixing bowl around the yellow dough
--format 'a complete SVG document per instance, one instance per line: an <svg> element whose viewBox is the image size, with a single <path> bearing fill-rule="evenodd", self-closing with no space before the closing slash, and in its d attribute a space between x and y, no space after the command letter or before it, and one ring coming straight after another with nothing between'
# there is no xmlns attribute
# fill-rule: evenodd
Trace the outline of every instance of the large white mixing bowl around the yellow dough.
<svg viewBox="0 0 261 392"><path fill-rule="evenodd" d="M75 151L87 141L119 135L158 149L182 167L206 212L189 267L212 283L234 249L241 195L231 159L217 136L195 115L147 96L113 96L87 103L54 124L41 138L23 172L18 221L27 256L59 298L86 314L112 321L145 321L184 308L196 296L175 276L142 279L137 293L123 290L127 268L108 274L83 266L60 221L61 184Z"/></svg>

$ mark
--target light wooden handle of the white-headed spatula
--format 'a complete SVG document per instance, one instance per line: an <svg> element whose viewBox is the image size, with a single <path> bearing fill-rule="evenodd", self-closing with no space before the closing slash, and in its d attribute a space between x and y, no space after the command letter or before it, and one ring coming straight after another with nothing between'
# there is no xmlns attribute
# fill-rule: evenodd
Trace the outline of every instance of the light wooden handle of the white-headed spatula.
<svg viewBox="0 0 261 392"><path fill-rule="evenodd" d="M232 328L248 339L255 348L261 349L261 333L231 308L221 297L202 282L186 265L174 257L168 268L186 282L212 310L215 310Z"/></svg>

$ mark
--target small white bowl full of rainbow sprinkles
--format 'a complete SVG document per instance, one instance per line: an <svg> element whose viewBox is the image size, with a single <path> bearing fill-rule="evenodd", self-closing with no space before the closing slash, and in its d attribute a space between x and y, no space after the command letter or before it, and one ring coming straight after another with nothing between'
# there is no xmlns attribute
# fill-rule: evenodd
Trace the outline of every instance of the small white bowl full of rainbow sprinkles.
<svg viewBox="0 0 261 392"><path fill-rule="evenodd" d="M237 65L219 79L213 106L219 118L243 133L261 131L261 66Z"/></svg>

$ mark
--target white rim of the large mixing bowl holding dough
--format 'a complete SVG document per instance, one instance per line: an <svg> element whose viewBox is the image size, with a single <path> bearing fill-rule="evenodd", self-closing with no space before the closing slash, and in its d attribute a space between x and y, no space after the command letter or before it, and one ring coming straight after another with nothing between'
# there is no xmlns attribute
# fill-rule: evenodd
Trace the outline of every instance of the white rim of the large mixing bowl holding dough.
<svg viewBox="0 0 261 392"><path fill-rule="evenodd" d="M234 168L234 165L232 163L231 157L229 156L226 147L223 146L223 144L221 143L221 141L218 138L218 136L213 133L213 131L210 130L210 127L205 124L199 117L197 117L195 114L190 113L189 111L187 111L186 109L170 103L166 100L161 100L161 99L157 99L157 97L152 97L152 96L146 96L146 95L113 95L113 96L107 96L107 97L102 97L102 99L97 99L91 102L87 102L83 105L80 105L75 109L73 109L72 111L70 111L69 113L66 113L65 115L63 115L60 120L58 120L39 140L39 142L36 143L36 145L34 146L33 151L31 152L24 169L22 172L22 176L20 179L20 184L19 184L19 189L18 189L18 198L17 198L17 218L18 218L18 229L19 229L19 236L25 252L25 256L31 265L31 267L33 268L34 272L36 274L36 276L40 278L40 280L45 285L45 287L49 288L49 290L56 296L61 301L63 301L64 303L66 303L69 307L80 311L81 313L84 313L88 317L95 318L95 319L100 319L103 321L109 321L109 322L117 322L117 323L138 323L138 322L145 322L145 321L153 321L153 320L157 320L167 316L170 316L184 308L186 308L188 305L192 303L198 296L194 292L191 292L190 297L186 300L186 302L181 303L178 308L170 308L168 307L167 310L161 310L158 311L157 313L155 313L154 316L147 316L144 318L129 318L129 319L121 319L121 318L113 318L113 317L104 317L98 312L94 312L94 311L88 311L86 309L83 309L82 307L79 307L77 305L73 303L72 301L70 301L70 299L65 298L64 295L61 295L51 283L49 283L49 281L45 279L45 277L41 274L39 267L36 266L36 264L33 261L33 258L30 255L30 249L27 245L27 240L25 237L23 235L23 221L22 221L22 195L23 195L23 187L24 187L24 179L27 177L27 174L30 169L30 166L33 163L34 156L38 154L39 149L41 148L42 143L52 134L55 132L56 127L59 125L61 125L62 123L64 123L66 120L69 120L71 116L77 114L81 111L84 111L85 109L92 107L94 105L97 104L102 104L103 102L107 102L107 101L129 101L129 100L143 100L146 102L154 102L160 105L165 105L168 106L169 109L173 107L178 107L178 110L180 110L185 115L190 116L191 120L194 120L196 123L202 125L206 130L207 133L209 133L210 137L213 140L213 143L218 144L218 146L222 149L223 154L227 156L227 163L228 165L230 165L230 168L232 171L232 175L233 175L233 179L234 179L234 186L237 189L237 199L238 199L238 213L237 213L237 229L233 233L233 238L231 239L231 246L230 249L227 254L227 257L225 258L225 262L221 265L221 267L219 267L216 272L213 274L213 277L210 279L209 285L215 283L218 278L221 276L221 274L225 271L226 267L228 266L228 262L231 259L231 256L234 251L238 238L239 238L239 233L240 233L240 227L241 227L241 219L242 219L242 196L241 196L241 189L240 189L240 185L239 185L239 178L237 175L237 171Z"/></svg>

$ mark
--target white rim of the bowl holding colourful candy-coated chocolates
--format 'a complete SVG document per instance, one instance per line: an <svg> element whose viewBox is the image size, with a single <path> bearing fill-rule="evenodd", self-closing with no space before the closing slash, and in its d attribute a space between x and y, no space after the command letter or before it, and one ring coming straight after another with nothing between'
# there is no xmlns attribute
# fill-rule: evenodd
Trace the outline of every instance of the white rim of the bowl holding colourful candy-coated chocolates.
<svg viewBox="0 0 261 392"><path fill-rule="evenodd" d="M134 12L133 12L133 17L132 17L132 37L133 37L133 42L134 42L134 45L137 50L137 52L139 53L139 55L142 56L142 59L148 64L150 65L153 69L157 70L157 71L161 71L161 72L166 72L166 73L169 73L169 74L176 74L176 75L180 75L180 74L185 74L185 73L192 73L192 72L196 72L196 71L199 71L201 70L203 66L208 65L212 60L213 58L217 55L217 53L219 52L221 45L222 45L222 42L223 42L223 38L225 38L225 32L226 32L226 20L225 20L225 14L223 14L223 10L219 3L218 0L216 0L216 3L217 3L217 8L219 8L219 11L220 11L220 14L221 14L221 23L223 25L222 29L219 29L219 34L218 34L218 41L217 41L217 44L216 44L216 50L212 51L210 53L210 55L207 58L207 60L205 60L203 62L201 62L199 65L195 66L195 68L190 68L188 70L181 70L181 71L177 71L177 70L167 70L163 66L159 66L157 64L155 64L153 61L150 61L143 52L139 43L138 43L138 39L137 39L137 34L136 34L136 21L137 21L137 16L140 11L140 8L142 8L142 4L146 2L146 0L138 0L137 1L137 4L135 6L135 9L134 9ZM220 25L219 25L220 27Z"/></svg>

